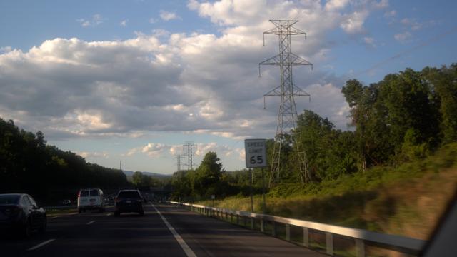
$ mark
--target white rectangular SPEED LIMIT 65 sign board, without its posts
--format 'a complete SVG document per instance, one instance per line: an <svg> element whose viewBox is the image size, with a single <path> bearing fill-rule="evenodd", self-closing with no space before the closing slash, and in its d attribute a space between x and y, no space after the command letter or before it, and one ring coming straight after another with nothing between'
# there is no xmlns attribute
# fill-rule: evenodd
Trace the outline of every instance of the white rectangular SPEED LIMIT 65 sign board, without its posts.
<svg viewBox="0 0 457 257"><path fill-rule="evenodd" d="M266 167L266 140L245 139L246 168Z"/></svg>

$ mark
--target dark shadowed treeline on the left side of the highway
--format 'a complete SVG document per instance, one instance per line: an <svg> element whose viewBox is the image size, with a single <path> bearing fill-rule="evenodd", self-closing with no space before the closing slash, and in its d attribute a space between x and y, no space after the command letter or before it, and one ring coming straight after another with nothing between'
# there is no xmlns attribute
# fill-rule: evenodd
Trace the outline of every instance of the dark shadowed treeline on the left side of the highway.
<svg viewBox="0 0 457 257"><path fill-rule="evenodd" d="M128 185L122 171L86 163L84 158L46 145L43 133L24 131L0 119L0 193L27 192L43 201L76 196L84 187Z"/></svg>

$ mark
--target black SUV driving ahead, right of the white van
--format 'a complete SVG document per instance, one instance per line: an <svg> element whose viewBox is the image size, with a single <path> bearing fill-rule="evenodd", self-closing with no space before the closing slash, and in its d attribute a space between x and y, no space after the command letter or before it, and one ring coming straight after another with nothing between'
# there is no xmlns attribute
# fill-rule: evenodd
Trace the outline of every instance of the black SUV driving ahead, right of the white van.
<svg viewBox="0 0 457 257"><path fill-rule="evenodd" d="M138 190L121 190L114 199L114 216L120 216L121 213L136 212L140 216L144 215L143 197Z"/></svg>

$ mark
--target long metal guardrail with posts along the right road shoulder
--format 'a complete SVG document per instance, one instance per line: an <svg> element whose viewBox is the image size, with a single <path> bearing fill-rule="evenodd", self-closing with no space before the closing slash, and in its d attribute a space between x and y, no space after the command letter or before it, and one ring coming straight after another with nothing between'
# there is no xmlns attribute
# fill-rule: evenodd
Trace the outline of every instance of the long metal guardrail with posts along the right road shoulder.
<svg viewBox="0 0 457 257"><path fill-rule="evenodd" d="M276 236L276 223L282 223L286 226L286 240L291 240L291 226L303 228L303 246L309 247L309 231L321 231L326 235L326 253L333 256L333 235L345 236L353 238L356 245L356 256L366 256L365 245L372 245L378 248L398 251L418 255L426 241L416 238L408 238L405 236L388 235L384 233L376 233L357 228L346 228L343 226L333 226L324 223L302 221L295 218L283 218L278 216L265 215L260 213L250 213L247 211L233 211L225 208L215 208L210 206L202 206L191 203L179 203L169 201L168 203L176 206L188 207L190 211L202 213L204 215L229 218L233 223L233 218L236 218L236 224L239 224L240 218L250 218L251 228L254 224L260 221L260 231L265 232L266 221L272 224L272 236Z"/></svg>

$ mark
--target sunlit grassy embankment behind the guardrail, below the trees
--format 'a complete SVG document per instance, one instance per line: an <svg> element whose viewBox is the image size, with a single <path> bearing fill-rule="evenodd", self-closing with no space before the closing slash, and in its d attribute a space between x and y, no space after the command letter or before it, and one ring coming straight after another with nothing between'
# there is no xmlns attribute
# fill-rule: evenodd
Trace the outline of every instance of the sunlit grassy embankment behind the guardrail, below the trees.
<svg viewBox="0 0 457 257"><path fill-rule="evenodd" d="M306 186L286 184L267 194L268 214L338 226L363 228L426 239L456 189L457 143L443 146L433 156L379 166L365 173ZM211 201L201 204L211 206ZM215 201L221 208L250 210L250 199ZM261 211L261 196L255 197Z"/></svg>

